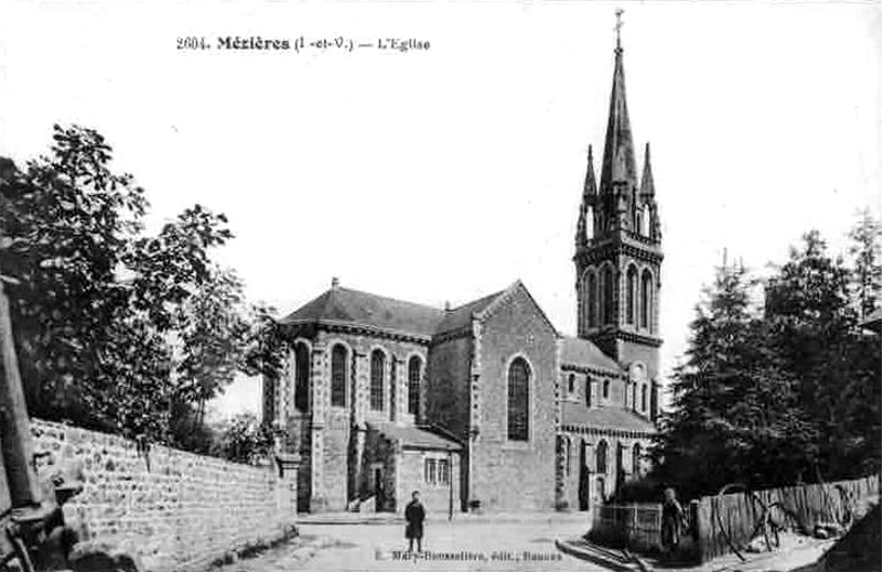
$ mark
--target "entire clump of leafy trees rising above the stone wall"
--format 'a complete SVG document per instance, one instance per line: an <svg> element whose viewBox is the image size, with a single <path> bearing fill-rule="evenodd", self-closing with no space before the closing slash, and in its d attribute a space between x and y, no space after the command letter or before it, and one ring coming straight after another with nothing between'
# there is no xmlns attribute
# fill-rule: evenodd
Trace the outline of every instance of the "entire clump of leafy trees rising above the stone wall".
<svg viewBox="0 0 883 572"><path fill-rule="evenodd" d="M96 131L55 126L50 157L0 162L0 245L32 414L194 444L204 403L244 366L241 281L211 251L233 235L200 205L143 234L144 192ZM203 444L202 446L205 446Z"/></svg>

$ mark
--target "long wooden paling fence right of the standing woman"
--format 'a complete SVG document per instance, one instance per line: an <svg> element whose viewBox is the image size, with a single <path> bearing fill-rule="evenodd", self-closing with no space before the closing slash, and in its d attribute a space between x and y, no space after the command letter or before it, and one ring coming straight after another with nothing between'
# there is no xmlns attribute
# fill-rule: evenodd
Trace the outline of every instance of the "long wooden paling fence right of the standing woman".
<svg viewBox="0 0 883 572"><path fill-rule="evenodd" d="M693 538L704 562L741 550L762 532L764 510L773 521L811 532L819 522L843 524L853 510L880 495L880 475L854 481L737 492L702 497L696 511Z"/></svg>

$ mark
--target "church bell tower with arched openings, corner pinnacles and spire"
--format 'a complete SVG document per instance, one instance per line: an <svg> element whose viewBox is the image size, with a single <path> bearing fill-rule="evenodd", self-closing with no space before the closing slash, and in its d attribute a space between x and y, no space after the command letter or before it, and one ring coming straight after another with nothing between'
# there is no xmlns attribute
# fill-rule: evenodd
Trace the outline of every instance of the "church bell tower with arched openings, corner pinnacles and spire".
<svg viewBox="0 0 883 572"><path fill-rule="evenodd" d="M577 226L577 300L579 336L616 359L635 387L653 384L650 403L632 393L626 406L657 410L659 376L659 290L663 262L659 211L650 168L650 145L644 151L638 180L632 127L625 100L625 72L618 17L613 88L601 162L595 181L592 148ZM628 399L628 398L627 398Z"/></svg>

